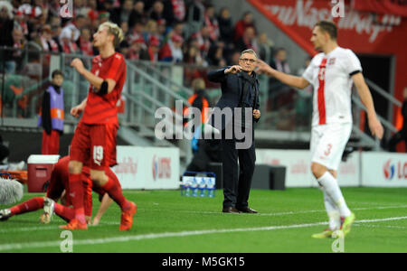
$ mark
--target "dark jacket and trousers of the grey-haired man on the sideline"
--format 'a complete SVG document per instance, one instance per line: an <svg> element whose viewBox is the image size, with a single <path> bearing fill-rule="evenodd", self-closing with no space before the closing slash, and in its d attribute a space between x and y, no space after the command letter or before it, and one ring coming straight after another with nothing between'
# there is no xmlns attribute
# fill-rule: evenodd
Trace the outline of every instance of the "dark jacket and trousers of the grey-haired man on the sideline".
<svg viewBox="0 0 407 271"><path fill-rule="evenodd" d="M225 74L224 70L211 70L208 73L208 79L213 82L221 83L222 97L216 104L221 110L229 107L234 112L234 108L251 107L251 116L253 109L259 109L259 81L253 71L251 76L244 71L237 74ZM251 120L258 122L259 119L251 117ZM222 166L223 166L223 208L235 207L243 209L248 207L249 193L251 190L251 178L254 172L256 161L254 145L254 128L253 125L245 124L241 121L240 129L251 129L252 143L247 149L236 148L237 140L234 136L232 139L225 138L226 128L233 127L234 131L234 114L232 119L222 117L222 123L216 125L212 115L209 123L215 128L222 131ZM244 130L243 130L244 131ZM239 161L239 166L238 166ZM238 173L238 168L240 172Z"/></svg>

